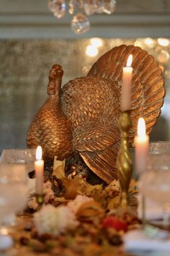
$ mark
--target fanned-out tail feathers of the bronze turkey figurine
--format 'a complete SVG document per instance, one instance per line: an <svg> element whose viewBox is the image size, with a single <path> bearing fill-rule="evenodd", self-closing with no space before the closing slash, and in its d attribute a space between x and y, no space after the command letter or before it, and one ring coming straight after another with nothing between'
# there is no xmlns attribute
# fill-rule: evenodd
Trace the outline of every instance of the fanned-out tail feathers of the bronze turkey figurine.
<svg viewBox="0 0 170 256"><path fill-rule="evenodd" d="M89 70L88 76L97 76L117 81L121 91L122 67L128 56L133 54L133 85L131 98L130 143L133 145L140 116L146 121L146 132L150 134L164 104L165 88L161 68L158 63L138 46L117 46L108 51Z"/></svg>

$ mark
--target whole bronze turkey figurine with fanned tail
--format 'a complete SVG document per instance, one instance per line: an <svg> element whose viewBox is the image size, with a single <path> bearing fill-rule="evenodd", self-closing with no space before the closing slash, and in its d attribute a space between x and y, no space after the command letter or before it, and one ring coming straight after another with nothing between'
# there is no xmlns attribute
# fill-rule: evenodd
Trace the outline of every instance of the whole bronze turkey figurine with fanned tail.
<svg viewBox="0 0 170 256"><path fill-rule="evenodd" d="M28 147L41 145L46 161L52 161L55 155L63 160L79 153L104 182L117 179L122 67L129 54L133 54L130 144L133 145L140 116L145 118L149 134L164 103L161 69L146 51L122 45L100 57L86 77L71 80L63 88L62 67L52 67L48 98L30 125Z"/></svg>

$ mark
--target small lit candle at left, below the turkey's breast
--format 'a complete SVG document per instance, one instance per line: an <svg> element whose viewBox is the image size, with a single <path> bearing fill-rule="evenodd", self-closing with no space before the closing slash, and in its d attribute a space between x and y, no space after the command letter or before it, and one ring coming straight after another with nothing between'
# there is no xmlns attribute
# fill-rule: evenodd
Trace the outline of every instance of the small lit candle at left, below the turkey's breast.
<svg viewBox="0 0 170 256"><path fill-rule="evenodd" d="M36 193L37 195L43 194L43 171L44 171L44 161L42 160L42 148L37 147L36 150L36 161L35 161L35 179L36 179Z"/></svg>

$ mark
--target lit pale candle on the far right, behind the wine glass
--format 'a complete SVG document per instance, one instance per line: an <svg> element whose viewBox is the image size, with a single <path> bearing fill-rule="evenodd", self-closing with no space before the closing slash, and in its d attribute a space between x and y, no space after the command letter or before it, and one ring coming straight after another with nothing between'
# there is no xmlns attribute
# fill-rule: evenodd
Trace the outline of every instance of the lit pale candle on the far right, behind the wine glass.
<svg viewBox="0 0 170 256"><path fill-rule="evenodd" d="M135 136L135 169L138 174L146 171L146 158L148 155L149 137L146 135L145 120L138 120L138 135Z"/></svg>

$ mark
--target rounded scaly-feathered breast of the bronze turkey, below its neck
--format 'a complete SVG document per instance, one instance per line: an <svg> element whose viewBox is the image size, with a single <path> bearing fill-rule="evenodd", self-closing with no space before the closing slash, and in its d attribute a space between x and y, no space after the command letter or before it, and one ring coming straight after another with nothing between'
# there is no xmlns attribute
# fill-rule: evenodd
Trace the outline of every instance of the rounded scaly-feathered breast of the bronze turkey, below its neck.
<svg viewBox="0 0 170 256"><path fill-rule="evenodd" d="M28 147L41 145L45 161L53 161L55 155L58 160L63 160L73 152L71 123L59 109L55 97L50 96L36 114L27 134Z"/></svg>

